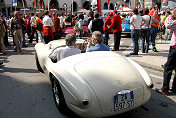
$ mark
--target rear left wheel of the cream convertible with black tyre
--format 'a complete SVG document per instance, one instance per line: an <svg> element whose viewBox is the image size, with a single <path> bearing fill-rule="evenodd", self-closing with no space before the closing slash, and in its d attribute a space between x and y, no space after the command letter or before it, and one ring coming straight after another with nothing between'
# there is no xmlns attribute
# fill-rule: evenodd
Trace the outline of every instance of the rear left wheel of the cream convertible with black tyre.
<svg viewBox="0 0 176 118"><path fill-rule="evenodd" d="M56 107L60 110L67 109L67 105L65 103L64 95L62 93L62 89L58 80L55 77L52 77L52 92L54 97L54 102Z"/></svg>

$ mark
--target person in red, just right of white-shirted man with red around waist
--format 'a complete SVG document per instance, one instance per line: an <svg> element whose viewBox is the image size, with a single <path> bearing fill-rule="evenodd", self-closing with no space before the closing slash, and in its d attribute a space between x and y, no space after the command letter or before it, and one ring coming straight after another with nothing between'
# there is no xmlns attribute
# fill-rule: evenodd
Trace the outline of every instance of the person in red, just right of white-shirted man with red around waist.
<svg viewBox="0 0 176 118"><path fill-rule="evenodd" d="M53 14L53 19L55 21L54 27L55 27L55 34L54 34L54 40L60 39L60 19L57 17L56 13L54 12Z"/></svg>

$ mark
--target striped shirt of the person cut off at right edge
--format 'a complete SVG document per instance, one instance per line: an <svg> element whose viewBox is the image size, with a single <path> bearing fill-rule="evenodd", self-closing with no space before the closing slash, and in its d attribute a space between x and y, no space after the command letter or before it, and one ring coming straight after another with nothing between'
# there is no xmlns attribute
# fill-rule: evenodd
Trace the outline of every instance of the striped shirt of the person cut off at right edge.
<svg viewBox="0 0 176 118"><path fill-rule="evenodd" d="M165 20L165 26L167 29L173 29L172 38L170 41L170 45L176 45L176 20L174 20L171 16L167 17Z"/></svg>

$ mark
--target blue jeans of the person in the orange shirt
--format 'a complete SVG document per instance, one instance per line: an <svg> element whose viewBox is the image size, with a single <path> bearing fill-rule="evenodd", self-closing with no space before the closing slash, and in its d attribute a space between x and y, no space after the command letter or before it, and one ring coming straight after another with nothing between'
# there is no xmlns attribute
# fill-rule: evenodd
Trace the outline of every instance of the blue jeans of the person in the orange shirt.
<svg viewBox="0 0 176 118"><path fill-rule="evenodd" d="M155 47L155 39L157 36L157 27L151 27L151 35L150 35L150 43L152 43L152 49L156 49Z"/></svg>

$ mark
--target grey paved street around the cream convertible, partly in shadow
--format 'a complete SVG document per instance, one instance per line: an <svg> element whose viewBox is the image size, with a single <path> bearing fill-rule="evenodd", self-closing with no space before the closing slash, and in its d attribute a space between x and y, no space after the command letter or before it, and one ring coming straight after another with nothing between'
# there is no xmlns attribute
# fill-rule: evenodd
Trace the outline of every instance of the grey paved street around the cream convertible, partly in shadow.
<svg viewBox="0 0 176 118"><path fill-rule="evenodd" d="M122 50L117 53L126 56L123 52L130 52L131 46L131 39L123 38ZM54 104L49 79L36 69L33 47L23 48L22 53L10 48L7 56L0 55L0 60L4 60L0 67L0 118L66 118ZM145 69L154 81L154 89L160 88L163 73ZM150 101L143 107L112 118L175 118L175 109L176 95L163 96L152 90Z"/></svg>

